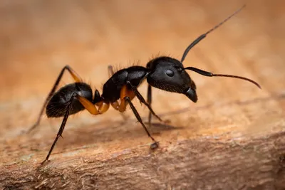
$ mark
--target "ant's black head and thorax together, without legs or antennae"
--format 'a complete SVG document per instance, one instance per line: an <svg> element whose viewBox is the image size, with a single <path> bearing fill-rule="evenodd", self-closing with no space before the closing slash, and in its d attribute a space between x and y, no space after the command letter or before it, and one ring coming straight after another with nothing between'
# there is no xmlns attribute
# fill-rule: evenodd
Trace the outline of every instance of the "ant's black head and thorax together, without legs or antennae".
<svg viewBox="0 0 285 190"><path fill-rule="evenodd" d="M127 85L129 90L133 90L138 88L145 79L155 88L182 93L190 97L193 102L197 101L195 83L184 70L182 63L170 57L150 60L147 68L132 66L119 70L103 85L103 100L115 102L120 98L120 91L124 85Z"/></svg>

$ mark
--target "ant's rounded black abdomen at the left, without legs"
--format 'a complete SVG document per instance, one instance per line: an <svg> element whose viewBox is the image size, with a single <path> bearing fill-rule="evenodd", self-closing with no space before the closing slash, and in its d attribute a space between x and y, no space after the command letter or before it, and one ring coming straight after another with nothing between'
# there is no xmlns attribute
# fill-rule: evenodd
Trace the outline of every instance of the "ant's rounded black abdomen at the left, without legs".
<svg viewBox="0 0 285 190"><path fill-rule="evenodd" d="M85 97L92 102L92 89L90 85L86 83L71 83L63 86L59 89L49 100L46 105L46 115L48 117L63 117L66 113L66 107L71 100L74 93ZM81 110L85 110L85 107L78 100L73 100L69 115L76 114Z"/></svg>

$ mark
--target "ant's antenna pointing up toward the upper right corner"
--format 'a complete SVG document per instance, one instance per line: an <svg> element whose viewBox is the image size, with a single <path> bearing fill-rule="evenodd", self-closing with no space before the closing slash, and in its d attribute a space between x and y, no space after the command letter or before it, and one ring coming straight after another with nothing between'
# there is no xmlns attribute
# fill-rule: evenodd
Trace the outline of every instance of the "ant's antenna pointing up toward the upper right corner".
<svg viewBox="0 0 285 190"><path fill-rule="evenodd" d="M203 33L201 36L199 36L198 38L196 38L195 41L193 41L184 51L183 56L181 58L181 63L183 63L183 61L185 60L188 52L190 51L191 48L193 48L197 43L199 43L199 41L202 41L202 39L204 39L208 33L211 33L212 31L214 31L215 29L219 28L219 26L221 26L223 23L225 23L226 21L228 21L229 19L232 18L232 16L236 15L239 13L239 11L242 11L242 9L244 9L245 5L242 6L241 8L239 8L237 11L234 12L234 14L232 14L231 16L228 16L227 19L224 19L224 21L222 21L221 23L217 24L216 26L214 26L214 28L211 28L209 31L207 31L206 33Z"/></svg>

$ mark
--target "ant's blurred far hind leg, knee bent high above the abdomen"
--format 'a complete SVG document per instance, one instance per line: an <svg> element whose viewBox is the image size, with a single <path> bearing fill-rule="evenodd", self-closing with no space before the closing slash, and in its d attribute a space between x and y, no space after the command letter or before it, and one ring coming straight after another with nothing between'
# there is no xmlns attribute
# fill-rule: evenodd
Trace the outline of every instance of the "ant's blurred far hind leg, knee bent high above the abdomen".
<svg viewBox="0 0 285 190"><path fill-rule="evenodd" d="M61 78L62 78L65 70L68 70L68 72L71 74L71 76L76 81L76 83L80 83L82 81L81 78L79 77L79 75L69 65L66 65L61 70L61 73L59 73L58 78L56 79L56 83L54 83L53 88L51 89L51 92L48 94L48 97L46 97L46 100L43 103L43 107L41 107L40 114L38 115L38 120L36 120L36 123L33 126L31 126L31 128L27 131L27 133L31 132L33 129L35 129L39 125L39 123L41 122L41 115L43 115L43 110L45 109L45 107L48 103L48 100L50 100L51 96L56 91L56 88L58 87L58 83L61 81Z"/></svg>

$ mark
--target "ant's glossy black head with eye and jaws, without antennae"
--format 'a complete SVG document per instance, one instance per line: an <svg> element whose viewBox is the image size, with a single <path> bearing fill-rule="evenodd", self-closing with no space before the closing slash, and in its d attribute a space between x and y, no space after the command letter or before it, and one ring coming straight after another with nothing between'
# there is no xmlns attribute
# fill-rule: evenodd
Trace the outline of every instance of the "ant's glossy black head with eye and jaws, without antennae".
<svg viewBox="0 0 285 190"><path fill-rule="evenodd" d="M197 102L195 83L179 60L158 57L150 60L147 68L150 72L147 75L147 83L161 90L185 94L190 100Z"/></svg>

